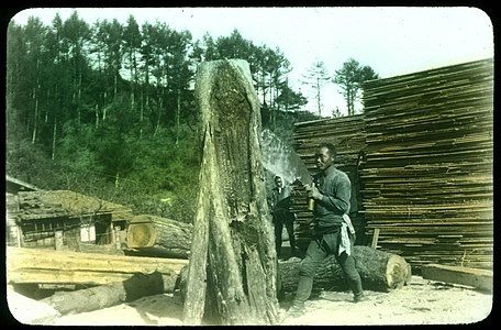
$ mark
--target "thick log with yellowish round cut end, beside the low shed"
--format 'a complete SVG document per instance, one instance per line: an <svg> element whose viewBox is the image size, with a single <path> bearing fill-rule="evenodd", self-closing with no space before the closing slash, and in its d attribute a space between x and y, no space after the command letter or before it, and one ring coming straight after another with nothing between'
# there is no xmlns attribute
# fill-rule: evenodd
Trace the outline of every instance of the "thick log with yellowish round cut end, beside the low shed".
<svg viewBox="0 0 501 330"><path fill-rule="evenodd" d="M129 254L188 258L193 226L149 215L135 216L127 226Z"/></svg>

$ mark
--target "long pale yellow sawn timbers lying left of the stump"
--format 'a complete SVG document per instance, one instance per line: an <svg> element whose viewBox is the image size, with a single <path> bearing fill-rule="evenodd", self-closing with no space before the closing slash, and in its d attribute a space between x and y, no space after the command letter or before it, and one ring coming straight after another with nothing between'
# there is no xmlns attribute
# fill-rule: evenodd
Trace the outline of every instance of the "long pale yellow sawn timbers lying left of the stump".
<svg viewBox="0 0 501 330"><path fill-rule="evenodd" d="M158 272L176 282L187 260L7 248L7 282L101 285Z"/></svg>

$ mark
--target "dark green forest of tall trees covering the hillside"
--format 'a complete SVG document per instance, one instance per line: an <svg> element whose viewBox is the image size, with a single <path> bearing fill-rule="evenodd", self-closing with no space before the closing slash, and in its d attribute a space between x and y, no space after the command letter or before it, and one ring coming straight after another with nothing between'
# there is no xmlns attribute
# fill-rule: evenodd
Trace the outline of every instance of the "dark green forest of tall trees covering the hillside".
<svg viewBox="0 0 501 330"><path fill-rule="evenodd" d="M11 21L7 38L7 174L44 189L70 189L138 213L191 221L198 191L199 63L249 63L263 127L285 140L307 98L288 84L279 48L166 23L98 20L75 11L51 25Z"/></svg>

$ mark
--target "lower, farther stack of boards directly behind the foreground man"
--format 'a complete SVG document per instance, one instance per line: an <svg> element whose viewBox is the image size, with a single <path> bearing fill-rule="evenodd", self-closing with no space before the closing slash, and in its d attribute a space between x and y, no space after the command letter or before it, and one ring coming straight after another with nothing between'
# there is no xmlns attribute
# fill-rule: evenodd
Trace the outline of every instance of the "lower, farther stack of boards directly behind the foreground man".
<svg viewBox="0 0 501 330"><path fill-rule="evenodd" d="M336 146L337 156L335 166L345 172L352 180L352 209L350 217L355 229L363 231L363 219L358 215L361 200L358 194L358 163L365 147L364 114L321 119L299 122L294 125L292 146L299 157L304 162L311 175L316 172L314 153L316 146L323 142ZM311 182L310 182L311 183ZM302 183L302 184L309 184ZM308 246L311 235L312 212L308 210L305 190L301 183L292 185L291 210L297 216L296 235L298 248ZM358 237L361 237L358 235Z"/></svg>

